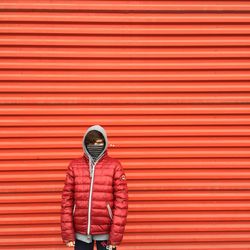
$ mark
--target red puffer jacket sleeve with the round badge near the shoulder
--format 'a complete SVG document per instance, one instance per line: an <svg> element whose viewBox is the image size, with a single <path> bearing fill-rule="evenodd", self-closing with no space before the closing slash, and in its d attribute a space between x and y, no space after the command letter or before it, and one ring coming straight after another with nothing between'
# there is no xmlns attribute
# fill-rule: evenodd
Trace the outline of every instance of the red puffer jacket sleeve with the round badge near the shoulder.
<svg viewBox="0 0 250 250"><path fill-rule="evenodd" d="M119 161L115 168L113 185L114 209L108 244L120 245L127 222L128 186L125 172Z"/></svg>

